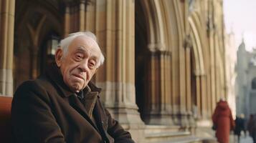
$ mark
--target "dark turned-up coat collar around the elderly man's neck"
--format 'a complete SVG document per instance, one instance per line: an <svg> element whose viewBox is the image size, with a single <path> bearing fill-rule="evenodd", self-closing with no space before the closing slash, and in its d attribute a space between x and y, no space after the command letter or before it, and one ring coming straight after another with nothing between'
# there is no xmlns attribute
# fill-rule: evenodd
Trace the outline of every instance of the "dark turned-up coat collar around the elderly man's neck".
<svg viewBox="0 0 256 143"><path fill-rule="evenodd" d="M72 94L75 94L75 92L72 92L69 87L67 87L67 84L63 81L62 74L60 72L60 68L57 66L57 64L52 63L47 67L46 70L46 76L55 84L57 85L57 88L60 89L62 92L62 97L70 97ZM88 91L88 89L90 89ZM100 93L101 89L96 87L93 82L89 82L87 84L87 87L85 89L82 89L84 93L87 92L98 92Z"/></svg>

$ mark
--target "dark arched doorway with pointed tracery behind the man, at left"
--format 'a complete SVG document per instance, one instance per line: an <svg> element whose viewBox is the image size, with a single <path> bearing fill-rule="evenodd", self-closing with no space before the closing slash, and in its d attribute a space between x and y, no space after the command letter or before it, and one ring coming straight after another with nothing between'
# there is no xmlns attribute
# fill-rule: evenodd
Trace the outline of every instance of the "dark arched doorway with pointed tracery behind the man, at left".
<svg viewBox="0 0 256 143"><path fill-rule="evenodd" d="M63 2L62 2L63 3ZM16 0L14 26L14 90L45 70L52 36L63 35L62 3L59 1ZM55 44L56 45L56 44Z"/></svg>

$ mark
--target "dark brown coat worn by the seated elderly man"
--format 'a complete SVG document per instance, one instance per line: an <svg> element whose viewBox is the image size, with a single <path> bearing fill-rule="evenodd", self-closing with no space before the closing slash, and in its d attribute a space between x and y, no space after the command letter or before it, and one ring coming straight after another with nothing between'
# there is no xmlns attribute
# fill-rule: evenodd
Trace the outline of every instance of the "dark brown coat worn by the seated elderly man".
<svg viewBox="0 0 256 143"><path fill-rule="evenodd" d="M87 104L64 84L56 65L46 76L24 82L16 90L11 108L15 142L133 142L131 134L100 103L100 89L92 83L88 86L91 91L85 95L86 103L93 103L90 97L97 96L91 107L93 119L85 108Z"/></svg>

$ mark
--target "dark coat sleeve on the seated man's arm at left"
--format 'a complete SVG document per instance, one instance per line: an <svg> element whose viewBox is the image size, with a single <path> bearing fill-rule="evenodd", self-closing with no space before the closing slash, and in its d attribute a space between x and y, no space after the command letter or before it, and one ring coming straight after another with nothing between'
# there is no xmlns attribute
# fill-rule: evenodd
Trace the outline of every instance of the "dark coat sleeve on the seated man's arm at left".
<svg viewBox="0 0 256 143"><path fill-rule="evenodd" d="M47 92L32 81L24 82L14 94L11 128L15 142L65 142Z"/></svg>

